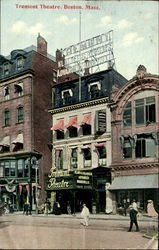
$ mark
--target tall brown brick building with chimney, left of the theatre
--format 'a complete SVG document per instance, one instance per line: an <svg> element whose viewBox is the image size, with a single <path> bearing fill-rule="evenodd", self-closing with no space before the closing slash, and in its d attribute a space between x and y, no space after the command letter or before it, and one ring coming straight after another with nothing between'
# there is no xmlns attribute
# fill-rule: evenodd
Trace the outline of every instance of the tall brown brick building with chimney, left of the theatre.
<svg viewBox="0 0 159 250"><path fill-rule="evenodd" d="M35 209L36 189L45 194L52 140L52 118L47 110L56 64L40 35L37 48L0 55L0 202L17 210L26 201Z"/></svg>

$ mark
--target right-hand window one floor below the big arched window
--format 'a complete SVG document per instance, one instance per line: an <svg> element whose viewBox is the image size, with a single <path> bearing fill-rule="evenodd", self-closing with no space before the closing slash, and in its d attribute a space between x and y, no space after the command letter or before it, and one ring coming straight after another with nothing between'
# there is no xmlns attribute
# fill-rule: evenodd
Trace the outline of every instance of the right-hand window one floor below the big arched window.
<svg viewBox="0 0 159 250"><path fill-rule="evenodd" d="M156 145L154 139L150 136L138 136L136 141L135 156L136 158L155 157Z"/></svg>

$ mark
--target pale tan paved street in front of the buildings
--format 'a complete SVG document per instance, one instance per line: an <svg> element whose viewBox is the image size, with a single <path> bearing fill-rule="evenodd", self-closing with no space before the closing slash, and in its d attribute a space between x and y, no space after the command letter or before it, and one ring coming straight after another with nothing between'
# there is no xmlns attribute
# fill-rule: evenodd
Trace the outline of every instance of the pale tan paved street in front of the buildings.
<svg viewBox="0 0 159 250"><path fill-rule="evenodd" d="M157 249L156 241L143 237L157 221L139 221L140 232L127 232L128 217L91 218L87 228L80 223L78 216L4 215L0 249Z"/></svg>

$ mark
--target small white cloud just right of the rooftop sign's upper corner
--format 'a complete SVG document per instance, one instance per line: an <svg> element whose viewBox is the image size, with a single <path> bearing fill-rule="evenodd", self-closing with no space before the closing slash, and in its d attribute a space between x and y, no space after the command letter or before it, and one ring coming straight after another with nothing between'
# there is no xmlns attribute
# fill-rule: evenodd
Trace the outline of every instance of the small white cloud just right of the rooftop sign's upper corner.
<svg viewBox="0 0 159 250"><path fill-rule="evenodd" d="M143 40L144 37L139 36L137 32L129 32L123 36L121 45L127 47L134 43L142 42Z"/></svg>

